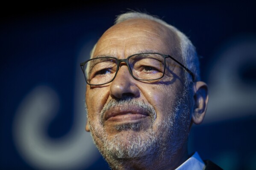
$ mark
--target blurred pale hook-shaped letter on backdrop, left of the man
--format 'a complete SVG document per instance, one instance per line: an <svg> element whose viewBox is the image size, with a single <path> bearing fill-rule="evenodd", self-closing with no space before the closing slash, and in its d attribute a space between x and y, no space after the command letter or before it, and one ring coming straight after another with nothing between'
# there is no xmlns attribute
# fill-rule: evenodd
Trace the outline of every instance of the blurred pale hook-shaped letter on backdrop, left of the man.
<svg viewBox="0 0 256 170"><path fill-rule="evenodd" d="M87 44L86 46L91 46ZM74 122L68 134L59 139L47 135L47 127L59 110L59 96L49 86L37 86L21 101L13 122L17 150L35 169L85 169L100 156L90 133L85 132L85 80L79 61L86 60L89 49L82 49L77 60L74 99ZM82 58L83 57L83 58Z"/></svg>

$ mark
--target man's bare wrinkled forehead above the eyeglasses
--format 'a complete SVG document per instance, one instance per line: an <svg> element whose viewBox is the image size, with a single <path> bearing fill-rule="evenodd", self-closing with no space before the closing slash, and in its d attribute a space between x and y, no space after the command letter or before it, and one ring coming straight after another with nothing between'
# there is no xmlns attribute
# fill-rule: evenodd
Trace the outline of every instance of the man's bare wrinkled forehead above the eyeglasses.
<svg viewBox="0 0 256 170"><path fill-rule="evenodd" d="M166 26L146 19L131 19L110 27L100 37L94 57L127 57L140 52L159 52L179 58L179 37Z"/></svg>

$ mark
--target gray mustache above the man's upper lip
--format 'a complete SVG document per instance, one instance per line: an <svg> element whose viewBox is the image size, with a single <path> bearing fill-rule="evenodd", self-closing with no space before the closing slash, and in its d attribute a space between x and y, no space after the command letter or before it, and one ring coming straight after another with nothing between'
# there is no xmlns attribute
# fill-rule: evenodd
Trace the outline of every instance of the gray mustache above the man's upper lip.
<svg viewBox="0 0 256 170"><path fill-rule="evenodd" d="M100 123L103 124L104 115L107 111L109 111L113 107L121 107L122 105L130 107L140 107L148 113L148 115L153 119L153 121L156 120L156 110L151 104L145 101L138 101L135 98L122 98L118 100L111 99L108 103L104 105L103 109L100 112Z"/></svg>

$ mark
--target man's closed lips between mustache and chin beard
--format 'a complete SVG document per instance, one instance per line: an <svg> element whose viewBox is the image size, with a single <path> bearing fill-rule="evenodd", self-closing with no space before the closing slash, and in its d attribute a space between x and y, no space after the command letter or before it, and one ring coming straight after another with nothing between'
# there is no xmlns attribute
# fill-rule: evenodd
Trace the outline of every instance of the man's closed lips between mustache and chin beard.
<svg viewBox="0 0 256 170"><path fill-rule="evenodd" d="M136 121L149 116L147 110L131 105L119 105L107 110L103 117L105 121Z"/></svg>

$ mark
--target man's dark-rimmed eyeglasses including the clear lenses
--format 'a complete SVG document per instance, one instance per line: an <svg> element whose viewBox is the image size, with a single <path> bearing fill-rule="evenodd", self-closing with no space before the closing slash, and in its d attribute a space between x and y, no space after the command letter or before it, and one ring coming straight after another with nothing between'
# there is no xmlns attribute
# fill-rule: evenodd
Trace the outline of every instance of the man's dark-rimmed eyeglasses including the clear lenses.
<svg viewBox="0 0 256 170"><path fill-rule="evenodd" d="M80 63L85 81L89 85L103 85L112 82L117 75L119 65L125 62L133 78L140 81L153 81L165 75L165 60L171 58L182 66L195 80L194 74L170 55L160 53L139 53L126 59L98 57Z"/></svg>

